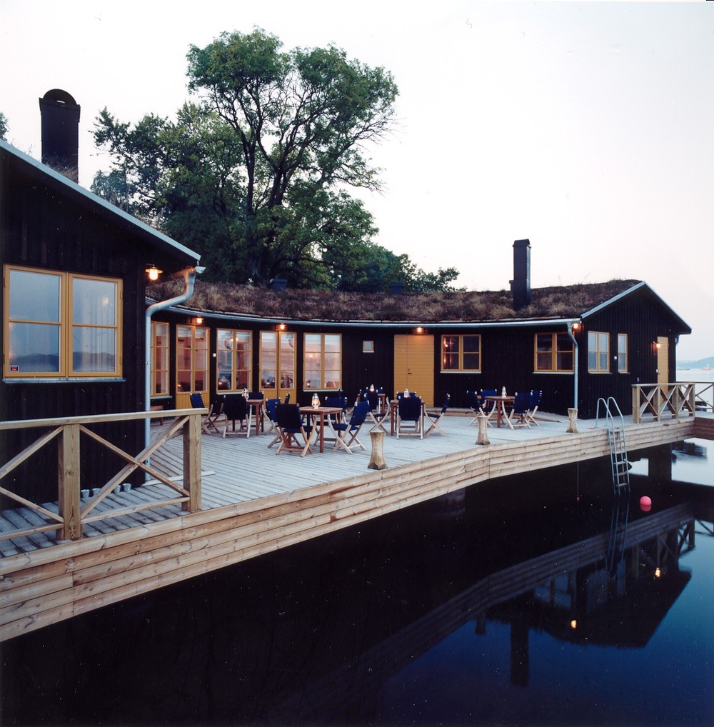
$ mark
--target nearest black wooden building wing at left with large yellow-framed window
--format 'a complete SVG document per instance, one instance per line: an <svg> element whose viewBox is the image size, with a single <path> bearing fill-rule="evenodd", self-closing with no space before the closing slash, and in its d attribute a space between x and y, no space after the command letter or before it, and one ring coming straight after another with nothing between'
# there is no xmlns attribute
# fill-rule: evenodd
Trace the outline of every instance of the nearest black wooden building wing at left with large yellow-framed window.
<svg viewBox="0 0 714 727"><path fill-rule="evenodd" d="M68 104L64 98L43 101ZM184 275L198 257L0 142L0 419L145 410L147 268ZM103 433L127 451L143 445L143 422ZM0 439L2 461L36 435ZM86 449L92 481L83 486L91 489L108 479L108 463ZM55 475L56 467L52 457L35 457L18 473L20 494L57 499L56 492L43 490L43 483L56 480L44 477L43 468Z"/></svg>

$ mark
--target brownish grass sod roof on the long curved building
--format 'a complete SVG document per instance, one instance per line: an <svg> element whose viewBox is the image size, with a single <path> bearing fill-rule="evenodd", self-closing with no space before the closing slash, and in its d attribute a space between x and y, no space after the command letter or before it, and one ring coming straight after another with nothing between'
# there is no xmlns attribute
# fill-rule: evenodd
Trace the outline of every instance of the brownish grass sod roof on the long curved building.
<svg viewBox="0 0 714 727"><path fill-rule="evenodd" d="M294 321L507 321L543 318L577 318L588 310L637 285L637 280L550 286L532 289L531 303L513 310L510 290L484 292L343 293L315 290L273 291L230 283L196 281L193 297L177 306L196 313L227 313ZM147 288L155 301L180 295L182 281Z"/></svg>

